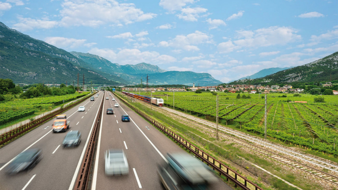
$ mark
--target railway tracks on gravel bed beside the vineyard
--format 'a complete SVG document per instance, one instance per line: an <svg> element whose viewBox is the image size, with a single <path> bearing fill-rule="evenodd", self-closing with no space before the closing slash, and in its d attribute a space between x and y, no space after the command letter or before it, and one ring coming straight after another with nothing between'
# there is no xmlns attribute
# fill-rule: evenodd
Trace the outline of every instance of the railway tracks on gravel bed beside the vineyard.
<svg viewBox="0 0 338 190"><path fill-rule="evenodd" d="M158 108L158 109L160 109L160 108ZM206 129L206 127L207 127L208 131L215 133L216 124L213 123L213 122L206 121L206 120L191 116L189 114L185 114L185 113L182 113L182 112L179 112L179 111L176 111L176 110L172 110L172 109L168 109L168 108L165 108L165 107L163 107L162 110L165 110L167 112L167 114L170 114L170 115L174 114L173 116L175 116L176 118L177 118L177 115L184 117L184 118L186 118L186 121L188 121L189 123L192 123L195 126L203 128L203 129ZM225 139L230 140L234 143L240 144L240 145L242 145L246 148L249 148L253 151L259 152L259 153L261 153L261 154L263 154L263 155L265 155L265 156L267 156L271 159L277 160L277 161L282 162L286 165L297 168L297 169L299 169L299 170L301 170L305 173L308 173L310 175L314 175L321 180L324 180L328 183L331 183L333 185L338 186L337 175L331 175L331 174L324 172L320 169L316 169L316 168L309 166L307 164L300 163L299 161L296 161L294 159L288 158L286 156L282 156L282 154L288 155L289 157L293 157L293 158L296 158L298 160L306 161L310 164L314 164L314 165L320 167L321 169L325 168L325 169L333 171L335 174L338 174L338 166L336 166L336 165L333 165L333 164L330 164L330 163L327 163L327 162L324 162L324 161L321 161L321 160L318 160L318 159L315 159L315 158L311 158L309 156L300 154L298 152L294 152L294 151L288 150L286 148L265 142L263 140L241 134L241 133L236 132L234 130L224 128L222 126L219 126L219 130L224 132L224 133L219 132L219 136L222 137L222 138L225 138ZM225 134L225 133L227 133L227 134ZM231 135L228 135L228 134L231 134ZM242 140L242 139L244 139L244 140ZM252 143L249 143L247 141L250 141ZM255 145L255 144L258 144L258 145ZM260 147L259 145L263 146L264 148ZM268 150L267 148L272 149L272 150ZM276 151L279 152L279 153L276 153Z"/></svg>

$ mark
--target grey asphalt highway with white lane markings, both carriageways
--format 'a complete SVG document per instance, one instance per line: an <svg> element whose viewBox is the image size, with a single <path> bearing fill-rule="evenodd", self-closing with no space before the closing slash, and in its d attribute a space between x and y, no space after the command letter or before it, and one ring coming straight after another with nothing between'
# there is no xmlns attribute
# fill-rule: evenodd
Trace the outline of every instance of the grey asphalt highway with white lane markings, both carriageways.
<svg viewBox="0 0 338 190"><path fill-rule="evenodd" d="M82 161L86 141L92 130L98 113L99 104L104 95L104 106L99 130L99 139L94 163L92 190L105 189L149 189L164 190L157 174L159 164L165 162L167 153L185 151L150 125L142 117L131 111L126 105L113 99L109 92L99 92L95 101L89 99L65 112L70 123L66 133L53 133L53 120L34 129L32 132L9 143L0 149L0 190L71 190L77 177L77 167ZM105 99L108 97L108 99ZM118 103L119 107L114 107ZM85 106L85 112L77 112L79 106ZM113 108L114 115L107 115L106 109ZM121 116L130 116L130 122L122 122ZM79 130L82 134L78 147L63 148L64 137L70 130ZM27 148L40 148L42 160L34 168L16 175L7 175L4 167L15 156ZM129 174L106 176L104 173L104 154L107 149L123 149L126 153ZM221 180L211 189L231 190Z"/></svg>

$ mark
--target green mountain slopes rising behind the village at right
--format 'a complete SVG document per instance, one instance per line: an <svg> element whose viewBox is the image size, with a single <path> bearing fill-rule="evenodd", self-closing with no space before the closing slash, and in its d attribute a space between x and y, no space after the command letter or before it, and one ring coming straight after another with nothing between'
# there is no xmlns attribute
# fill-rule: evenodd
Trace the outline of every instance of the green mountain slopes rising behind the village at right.
<svg viewBox="0 0 338 190"><path fill-rule="evenodd" d="M231 84L280 84L292 82L320 82L338 80L338 52L317 61L286 69L256 79L241 79Z"/></svg>

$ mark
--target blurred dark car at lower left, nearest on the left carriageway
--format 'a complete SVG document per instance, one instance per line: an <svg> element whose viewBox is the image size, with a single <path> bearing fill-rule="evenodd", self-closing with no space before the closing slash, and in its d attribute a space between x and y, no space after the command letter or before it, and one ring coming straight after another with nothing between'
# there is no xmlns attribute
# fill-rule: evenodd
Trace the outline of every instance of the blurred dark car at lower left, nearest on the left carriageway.
<svg viewBox="0 0 338 190"><path fill-rule="evenodd" d="M38 148L31 148L21 152L15 159L7 166L7 174L13 175L20 171L33 168L41 160L41 150Z"/></svg>

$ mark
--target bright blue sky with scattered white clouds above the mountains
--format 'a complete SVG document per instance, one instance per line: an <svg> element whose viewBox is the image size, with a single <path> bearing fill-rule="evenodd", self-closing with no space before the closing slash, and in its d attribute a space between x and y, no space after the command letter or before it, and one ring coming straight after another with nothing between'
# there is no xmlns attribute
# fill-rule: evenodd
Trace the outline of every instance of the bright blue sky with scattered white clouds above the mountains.
<svg viewBox="0 0 338 190"><path fill-rule="evenodd" d="M338 51L337 0L0 0L0 22L67 51L222 82Z"/></svg>

